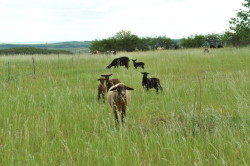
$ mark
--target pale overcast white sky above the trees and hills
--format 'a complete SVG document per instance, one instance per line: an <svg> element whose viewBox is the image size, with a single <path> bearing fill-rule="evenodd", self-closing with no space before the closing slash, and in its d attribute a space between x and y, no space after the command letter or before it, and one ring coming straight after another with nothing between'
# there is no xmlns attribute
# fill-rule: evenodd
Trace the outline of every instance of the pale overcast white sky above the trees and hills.
<svg viewBox="0 0 250 166"><path fill-rule="evenodd" d="M244 0L0 0L0 43L223 33Z"/></svg>

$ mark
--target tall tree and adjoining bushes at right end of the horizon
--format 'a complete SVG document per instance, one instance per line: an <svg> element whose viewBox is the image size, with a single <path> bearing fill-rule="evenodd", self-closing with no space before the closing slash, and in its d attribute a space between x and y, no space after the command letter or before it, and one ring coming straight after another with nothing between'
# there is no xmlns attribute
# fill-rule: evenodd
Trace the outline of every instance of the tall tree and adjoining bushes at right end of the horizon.
<svg viewBox="0 0 250 166"><path fill-rule="evenodd" d="M192 35L182 39L183 47L208 45L243 46L250 44L250 0L245 0L243 9L237 10L236 17L229 20L229 28L223 34Z"/></svg>

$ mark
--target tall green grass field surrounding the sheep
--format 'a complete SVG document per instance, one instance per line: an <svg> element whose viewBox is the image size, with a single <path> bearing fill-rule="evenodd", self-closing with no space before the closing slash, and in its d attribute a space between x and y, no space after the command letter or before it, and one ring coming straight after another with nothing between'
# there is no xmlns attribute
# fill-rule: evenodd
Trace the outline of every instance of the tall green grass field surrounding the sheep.
<svg viewBox="0 0 250 166"><path fill-rule="evenodd" d="M119 56L145 69L105 68ZM0 165L250 165L249 47L34 59L0 57ZM124 127L97 101L110 73L135 89Z"/></svg>

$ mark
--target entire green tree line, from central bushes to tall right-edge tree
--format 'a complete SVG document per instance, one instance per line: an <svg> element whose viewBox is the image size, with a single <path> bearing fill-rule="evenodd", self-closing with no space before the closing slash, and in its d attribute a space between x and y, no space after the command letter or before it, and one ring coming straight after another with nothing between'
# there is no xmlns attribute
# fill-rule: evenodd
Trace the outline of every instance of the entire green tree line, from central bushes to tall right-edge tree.
<svg viewBox="0 0 250 166"><path fill-rule="evenodd" d="M229 20L229 28L223 34L191 35L181 39L181 42L172 40L166 36L142 37L122 30L113 37L95 40L90 46L90 50L105 51L134 51L134 50L155 50L211 47L216 48L222 45L242 46L250 44L250 0L245 0L242 4L244 9L236 13L235 18Z"/></svg>

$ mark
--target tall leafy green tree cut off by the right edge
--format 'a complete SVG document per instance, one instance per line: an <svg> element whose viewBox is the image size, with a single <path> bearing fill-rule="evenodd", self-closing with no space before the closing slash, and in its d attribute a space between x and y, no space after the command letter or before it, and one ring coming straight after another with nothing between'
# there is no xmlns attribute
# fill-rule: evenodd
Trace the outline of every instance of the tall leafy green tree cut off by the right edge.
<svg viewBox="0 0 250 166"><path fill-rule="evenodd" d="M236 13L229 21L229 30L224 34L224 40L233 45L250 44L250 0L242 4L244 9Z"/></svg>

